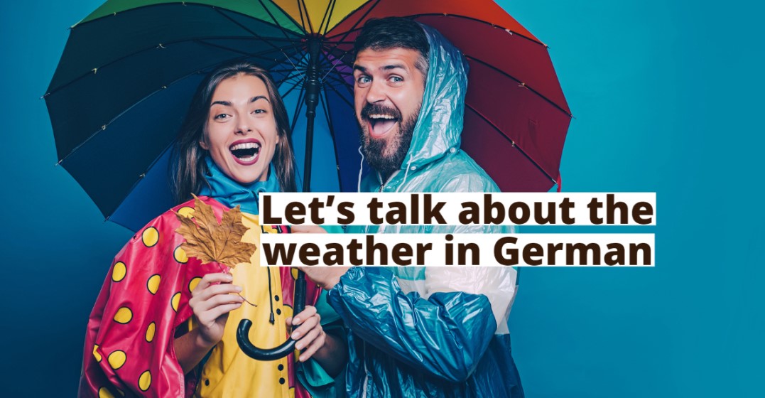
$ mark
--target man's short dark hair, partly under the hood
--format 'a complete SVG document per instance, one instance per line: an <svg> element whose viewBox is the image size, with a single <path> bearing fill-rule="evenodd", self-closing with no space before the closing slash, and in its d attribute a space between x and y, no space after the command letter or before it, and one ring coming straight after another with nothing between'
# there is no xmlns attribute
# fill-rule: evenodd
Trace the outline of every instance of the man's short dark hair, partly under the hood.
<svg viewBox="0 0 765 398"><path fill-rule="evenodd" d="M428 44L425 31L417 22L402 17L369 19L356 37L353 50L359 54L368 48L374 51L391 48L409 48L418 51L420 57L415 62L415 67L422 72L422 76L427 80L430 44Z"/></svg>

